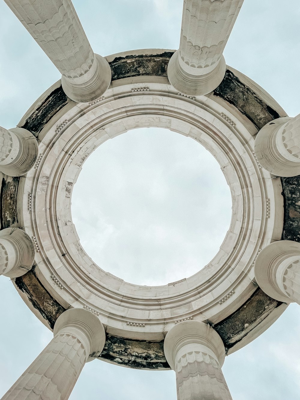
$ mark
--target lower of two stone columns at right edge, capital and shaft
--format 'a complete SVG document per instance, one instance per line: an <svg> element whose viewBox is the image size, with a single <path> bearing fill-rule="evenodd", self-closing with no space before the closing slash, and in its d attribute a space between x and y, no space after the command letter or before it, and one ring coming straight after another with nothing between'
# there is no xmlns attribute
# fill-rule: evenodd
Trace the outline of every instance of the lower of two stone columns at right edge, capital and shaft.
<svg viewBox="0 0 300 400"><path fill-rule="evenodd" d="M268 296L300 304L300 243L278 240L269 244L256 257L254 274Z"/></svg>

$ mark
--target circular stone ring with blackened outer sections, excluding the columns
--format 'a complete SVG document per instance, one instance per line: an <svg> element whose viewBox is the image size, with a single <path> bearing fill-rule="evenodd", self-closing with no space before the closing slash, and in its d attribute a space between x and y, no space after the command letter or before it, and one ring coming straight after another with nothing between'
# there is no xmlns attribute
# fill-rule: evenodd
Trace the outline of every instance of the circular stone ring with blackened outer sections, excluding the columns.
<svg viewBox="0 0 300 400"><path fill-rule="evenodd" d="M130 343L148 355L155 348L157 356L165 333L190 318L214 324L226 348L238 348L285 308L257 290L253 272L260 248L280 240L283 224L280 180L257 162L254 138L264 124L285 114L254 82L230 69L212 94L181 95L166 78L171 55L142 50L109 56L113 80L104 96L75 104L55 84L19 124L40 142L35 168L16 183L23 204L18 220L36 246L33 271L15 282L22 298L52 326L68 307L96 314L107 333L100 357L142 368L146 360L136 356L130 364L122 351L116 356L114 344ZM155 288L128 284L95 266L80 247L70 214L72 186L88 154L104 140L140 126L166 127L203 144L219 161L232 192L232 223L214 260L190 278ZM6 207L5 218L12 222L13 204L7 200ZM230 323L239 318L242 324L244 308L252 322L234 334L230 329L236 324L230 328ZM154 364L150 368L166 368L163 354Z"/></svg>

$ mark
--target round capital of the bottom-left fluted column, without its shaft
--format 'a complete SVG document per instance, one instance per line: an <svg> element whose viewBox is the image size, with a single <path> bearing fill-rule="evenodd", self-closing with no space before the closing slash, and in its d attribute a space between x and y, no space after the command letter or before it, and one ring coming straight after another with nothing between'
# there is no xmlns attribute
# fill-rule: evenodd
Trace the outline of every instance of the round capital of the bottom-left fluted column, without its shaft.
<svg viewBox="0 0 300 400"><path fill-rule="evenodd" d="M85 343L89 348L88 361L97 357L105 345L106 335L102 322L83 308L70 308L60 314L55 322L53 334L55 336L60 333L74 334Z"/></svg>

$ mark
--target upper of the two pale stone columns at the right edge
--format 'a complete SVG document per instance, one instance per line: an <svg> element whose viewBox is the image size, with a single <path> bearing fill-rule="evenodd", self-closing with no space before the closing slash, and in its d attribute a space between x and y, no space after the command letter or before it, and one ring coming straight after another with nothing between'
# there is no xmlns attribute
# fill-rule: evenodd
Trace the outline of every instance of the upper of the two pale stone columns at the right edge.
<svg viewBox="0 0 300 400"><path fill-rule="evenodd" d="M271 174L300 174L300 114L268 122L255 138L258 162Z"/></svg>

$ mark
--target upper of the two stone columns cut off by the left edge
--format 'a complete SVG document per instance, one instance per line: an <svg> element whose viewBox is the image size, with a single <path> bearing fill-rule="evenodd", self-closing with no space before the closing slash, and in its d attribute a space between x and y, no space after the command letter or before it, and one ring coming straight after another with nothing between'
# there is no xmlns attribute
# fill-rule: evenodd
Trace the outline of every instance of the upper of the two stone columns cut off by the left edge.
<svg viewBox="0 0 300 400"><path fill-rule="evenodd" d="M35 136L23 128L7 130L0 126L0 171L21 176L32 168L38 157Z"/></svg>

